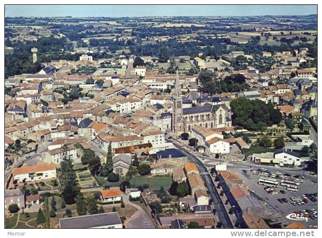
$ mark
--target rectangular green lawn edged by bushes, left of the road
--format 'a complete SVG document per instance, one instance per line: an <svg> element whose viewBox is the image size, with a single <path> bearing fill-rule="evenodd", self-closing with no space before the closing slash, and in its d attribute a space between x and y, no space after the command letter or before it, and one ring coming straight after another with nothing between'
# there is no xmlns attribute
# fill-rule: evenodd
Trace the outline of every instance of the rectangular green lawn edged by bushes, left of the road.
<svg viewBox="0 0 322 238"><path fill-rule="evenodd" d="M160 177L146 177L146 176L135 176L130 180L130 183L135 186L149 184L149 189L159 190L160 187L168 188L171 185L170 176L160 176Z"/></svg>

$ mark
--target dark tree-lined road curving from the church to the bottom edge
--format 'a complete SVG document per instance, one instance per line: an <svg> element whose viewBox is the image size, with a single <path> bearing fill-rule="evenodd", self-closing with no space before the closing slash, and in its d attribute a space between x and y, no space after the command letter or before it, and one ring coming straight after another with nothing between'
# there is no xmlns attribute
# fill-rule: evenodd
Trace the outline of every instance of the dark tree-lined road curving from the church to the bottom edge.
<svg viewBox="0 0 322 238"><path fill-rule="evenodd" d="M170 142L170 141L169 141ZM222 223L222 228L234 228L229 215L227 214L225 207L222 203L222 200L218 194L216 186L210 177L207 168L203 165L203 163L193 154L186 151L184 148L178 147L177 144L173 143L178 149L184 153L188 160L196 164L199 169L199 172L202 173L201 178L203 179L206 187L208 188L209 195L212 199L212 203L215 205L216 208L216 215L218 220ZM204 173L206 172L206 173Z"/></svg>

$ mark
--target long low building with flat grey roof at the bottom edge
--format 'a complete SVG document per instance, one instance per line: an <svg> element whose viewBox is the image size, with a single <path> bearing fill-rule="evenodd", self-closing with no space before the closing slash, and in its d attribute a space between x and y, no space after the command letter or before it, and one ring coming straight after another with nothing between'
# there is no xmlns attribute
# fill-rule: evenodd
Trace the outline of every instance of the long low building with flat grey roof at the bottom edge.
<svg viewBox="0 0 322 238"><path fill-rule="evenodd" d="M59 227L62 229L122 228L122 222L117 212L110 212L74 218L60 218Z"/></svg>

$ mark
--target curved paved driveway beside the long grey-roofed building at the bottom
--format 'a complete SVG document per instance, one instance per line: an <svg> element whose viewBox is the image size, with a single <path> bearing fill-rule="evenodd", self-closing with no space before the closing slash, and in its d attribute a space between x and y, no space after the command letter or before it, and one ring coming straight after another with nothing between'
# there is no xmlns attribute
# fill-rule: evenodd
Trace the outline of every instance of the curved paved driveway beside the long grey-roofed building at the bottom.
<svg viewBox="0 0 322 238"><path fill-rule="evenodd" d="M130 202L129 196L122 196L125 204L135 207L138 211L131 217L125 220L124 225L126 228L155 228L149 216L141 208L141 206Z"/></svg>

